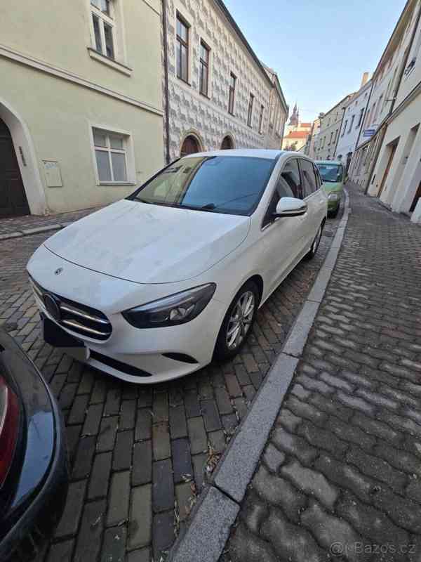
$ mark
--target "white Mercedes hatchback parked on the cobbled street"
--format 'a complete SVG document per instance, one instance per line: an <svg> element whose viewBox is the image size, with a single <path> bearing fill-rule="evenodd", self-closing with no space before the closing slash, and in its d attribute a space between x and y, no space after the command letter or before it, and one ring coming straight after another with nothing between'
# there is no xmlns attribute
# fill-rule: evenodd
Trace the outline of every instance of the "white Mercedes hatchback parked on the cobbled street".
<svg viewBox="0 0 421 562"><path fill-rule="evenodd" d="M35 251L27 269L44 338L140 383L232 358L259 306L316 254L320 188L312 160L291 152L178 159Z"/></svg>

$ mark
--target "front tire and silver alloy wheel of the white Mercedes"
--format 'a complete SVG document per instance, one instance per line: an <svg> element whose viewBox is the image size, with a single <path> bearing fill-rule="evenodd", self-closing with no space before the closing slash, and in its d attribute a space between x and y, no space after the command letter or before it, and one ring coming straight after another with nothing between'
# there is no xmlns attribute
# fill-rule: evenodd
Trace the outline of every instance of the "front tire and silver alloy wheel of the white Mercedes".
<svg viewBox="0 0 421 562"><path fill-rule="evenodd" d="M251 297L253 297L253 302L250 302ZM243 287L241 287L239 292L237 292L236 296L234 296L234 299L225 314L225 318L222 322L218 338L216 340L215 351L213 353L216 360L227 361L239 353L243 345L246 343L247 336L250 334L255 322L259 302L260 294L258 286L254 281L247 281ZM234 337L234 332L236 331L236 320L234 319L234 315L239 318L239 310L236 310L237 306L241 308L241 314L243 314L243 316L238 320L239 332L237 332L237 336ZM244 312L247 312L248 310L248 306L253 306L253 310L244 315ZM247 321L245 321L245 319ZM232 332L232 336L230 337L228 332L233 329L234 332ZM230 341L232 341L232 344L230 344Z"/></svg>

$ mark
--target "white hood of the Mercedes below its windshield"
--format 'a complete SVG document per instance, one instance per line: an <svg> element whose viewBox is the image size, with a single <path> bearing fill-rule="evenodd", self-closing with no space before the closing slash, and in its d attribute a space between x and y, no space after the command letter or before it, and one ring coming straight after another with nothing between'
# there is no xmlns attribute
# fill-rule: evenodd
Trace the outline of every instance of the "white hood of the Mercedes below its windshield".
<svg viewBox="0 0 421 562"><path fill-rule="evenodd" d="M121 200L46 240L62 259L138 283L200 275L245 240L248 216Z"/></svg>

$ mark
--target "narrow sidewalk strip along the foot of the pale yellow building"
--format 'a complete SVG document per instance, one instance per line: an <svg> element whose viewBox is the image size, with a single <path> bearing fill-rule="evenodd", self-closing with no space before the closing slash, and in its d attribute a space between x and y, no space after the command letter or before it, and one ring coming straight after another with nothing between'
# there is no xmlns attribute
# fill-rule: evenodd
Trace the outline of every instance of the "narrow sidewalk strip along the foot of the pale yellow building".
<svg viewBox="0 0 421 562"><path fill-rule="evenodd" d="M51 230L55 228L62 228L68 223L73 223L79 218L93 213L100 207L93 209L82 209L81 211L70 211L69 213L53 214L48 216L13 216L10 218L0 218L0 241L5 240L11 236L22 236L33 234L32 229L47 228Z"/></svg>

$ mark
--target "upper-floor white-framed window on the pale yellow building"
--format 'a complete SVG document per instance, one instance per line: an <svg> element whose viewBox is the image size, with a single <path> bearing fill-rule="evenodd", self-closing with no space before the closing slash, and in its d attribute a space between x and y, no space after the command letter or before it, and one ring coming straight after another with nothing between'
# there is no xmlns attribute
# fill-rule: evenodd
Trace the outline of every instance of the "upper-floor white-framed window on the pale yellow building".
<svg viewBox="0 0 421 562"><path fill-rule="evenodd" d="M91 0L94 48L98 53L116 58L114 0Z"/></svg>

